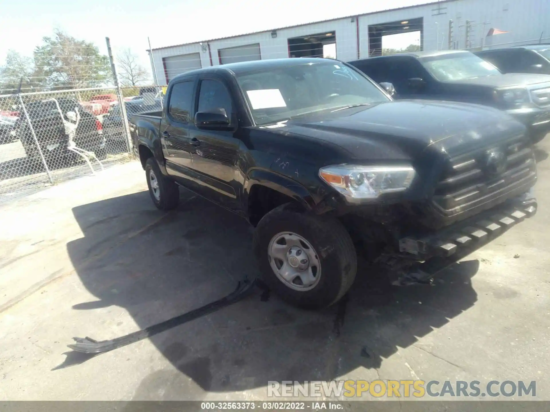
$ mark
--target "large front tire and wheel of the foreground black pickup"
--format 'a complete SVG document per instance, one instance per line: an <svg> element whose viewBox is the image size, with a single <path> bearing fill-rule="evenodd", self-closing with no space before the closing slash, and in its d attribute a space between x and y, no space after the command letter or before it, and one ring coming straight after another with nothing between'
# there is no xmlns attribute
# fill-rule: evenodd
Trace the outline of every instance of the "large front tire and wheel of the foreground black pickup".
<svg viewBox="0 0 550 412"><path fill-rule="evenodd" d="M295 246L294 235L305 242L298 240L299 246ZM282 238L285 240L282 241ZM320 309L334 304L355 280L357 255L344 226L333 218L300 213L289 203L263 216L254 232L253 247L260 264L261 278L266 285L282 299L304 309ZM275 253L270 257L270 250L279 247L279 255L284 255L287 261L277 258ZM292 248L294 251L290 250ZM298 257L297 250L310 259L307 269L304 269L305 266L292 267L292 254ZM290 277L296 273L303 274L311 284L302 282L300 276L294 277L292 282L282 280L282 275L276 273L281 263L287 265L282 266L283 271L284 268L291 271ZM296 265L297 261L293 263Z"/></svg>

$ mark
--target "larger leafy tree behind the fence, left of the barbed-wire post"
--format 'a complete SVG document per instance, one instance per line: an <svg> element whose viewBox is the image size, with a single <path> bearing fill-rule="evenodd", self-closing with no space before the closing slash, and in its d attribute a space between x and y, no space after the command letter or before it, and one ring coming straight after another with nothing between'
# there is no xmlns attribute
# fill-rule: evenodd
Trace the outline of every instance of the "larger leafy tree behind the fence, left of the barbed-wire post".
<svg viewBox="0 0 550 412"><path fill-rule="evenodd" d="M43 37L34 52L37 73L45 86L53 89L97 87L111 82L109 59L94 43L76 40L56 29L53 37Z"/></svg>

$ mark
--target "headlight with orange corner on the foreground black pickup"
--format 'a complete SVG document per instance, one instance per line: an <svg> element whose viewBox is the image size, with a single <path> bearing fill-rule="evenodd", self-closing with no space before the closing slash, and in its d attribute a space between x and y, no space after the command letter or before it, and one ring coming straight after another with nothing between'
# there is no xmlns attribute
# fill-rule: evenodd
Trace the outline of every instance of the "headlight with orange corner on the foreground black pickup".
<svg viewBox="0 0 550 412"><path fill-rule="evenodd" d="M415 170L410 166L337 165L320 169L319 176L349 202L357 202L406 190L414 179Z"/></svg>

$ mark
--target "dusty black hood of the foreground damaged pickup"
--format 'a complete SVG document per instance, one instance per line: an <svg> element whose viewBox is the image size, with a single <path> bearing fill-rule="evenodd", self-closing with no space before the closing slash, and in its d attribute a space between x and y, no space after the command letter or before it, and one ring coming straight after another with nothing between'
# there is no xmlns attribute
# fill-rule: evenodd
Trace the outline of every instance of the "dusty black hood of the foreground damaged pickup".
<svg viewBox="0 0 550 412"><path fill-rule="evenodd" d="M490 107L400 100L289 120L284 132L340 146L353 159L417 159L423 151L454 157L525 133L511 116Z"/></svg>

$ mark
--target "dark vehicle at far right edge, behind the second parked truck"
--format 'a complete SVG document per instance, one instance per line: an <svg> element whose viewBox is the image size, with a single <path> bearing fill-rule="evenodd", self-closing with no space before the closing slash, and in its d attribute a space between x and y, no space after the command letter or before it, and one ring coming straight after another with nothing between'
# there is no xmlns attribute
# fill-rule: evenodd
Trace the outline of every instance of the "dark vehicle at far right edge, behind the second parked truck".
<svg viewBox="0 0 550 412"><path fill-rule="evenodd" d="M502 73L550 74L550 44L530 44L475 53Z"/></svg>

